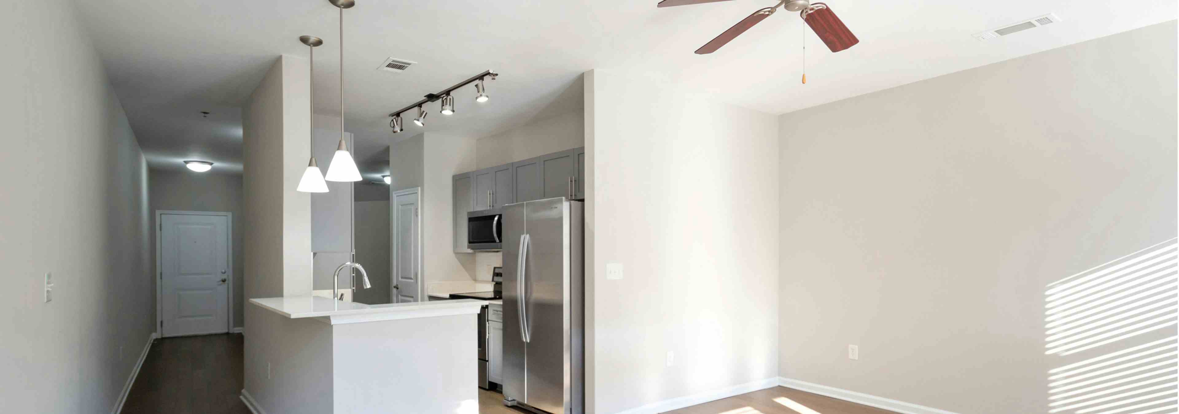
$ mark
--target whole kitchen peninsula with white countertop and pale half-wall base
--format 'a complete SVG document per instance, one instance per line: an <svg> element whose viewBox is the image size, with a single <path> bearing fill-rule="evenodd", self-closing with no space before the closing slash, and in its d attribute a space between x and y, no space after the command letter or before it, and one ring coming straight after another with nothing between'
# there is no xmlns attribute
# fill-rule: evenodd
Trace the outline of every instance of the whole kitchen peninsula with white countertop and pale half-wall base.
<svg viewBox="0 0 1179 414"><path fill-rule="evenodd" d="M250 299L242 400L256 413L477 414L486 303Z"/></svg>

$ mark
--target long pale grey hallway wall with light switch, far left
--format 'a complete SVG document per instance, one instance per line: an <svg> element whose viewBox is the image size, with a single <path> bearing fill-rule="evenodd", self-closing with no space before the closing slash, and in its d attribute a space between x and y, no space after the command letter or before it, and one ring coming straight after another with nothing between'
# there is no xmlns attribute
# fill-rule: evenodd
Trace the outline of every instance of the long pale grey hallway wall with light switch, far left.
<svg viewBox="0 0 1179 414"><path fill-rule="evenodd" d="M0 410L110 413L154 332L147 165L74 4L4 8Z"/></svg>

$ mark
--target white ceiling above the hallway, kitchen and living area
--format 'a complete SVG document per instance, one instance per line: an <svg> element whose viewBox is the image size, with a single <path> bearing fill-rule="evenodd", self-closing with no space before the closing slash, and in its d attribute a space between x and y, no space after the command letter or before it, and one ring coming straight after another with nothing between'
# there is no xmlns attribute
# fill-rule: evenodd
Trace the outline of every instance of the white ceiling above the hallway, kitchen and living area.
<svg viewBox="0 0 1179 414"><path fill-rule="evenodd" d="M828 0L861 42L832 54L808 31L808 84L801 85L803 22L795 13L770 16L717 53L692 53L775 1L657 2L358 0L344 12L347 129L390 140L391 111L485 69L500 73L488 82L492 100L476 106L473 88L461 89L455 115L428 107L427 131L485 136L580 108L580 74L592 68L780 114L1177 16L1174 0ZM316 112L338 114L338 9L327 0L78 6L153 168L204 159L241 171L239 107L277 55L307 56L303 34L325 42L316 49ZM1063 21L988 41L970 36L1049 12ZM389 56L419 64L404 73L376 71ZM415 128L407 125L402 134Z"/></svg>

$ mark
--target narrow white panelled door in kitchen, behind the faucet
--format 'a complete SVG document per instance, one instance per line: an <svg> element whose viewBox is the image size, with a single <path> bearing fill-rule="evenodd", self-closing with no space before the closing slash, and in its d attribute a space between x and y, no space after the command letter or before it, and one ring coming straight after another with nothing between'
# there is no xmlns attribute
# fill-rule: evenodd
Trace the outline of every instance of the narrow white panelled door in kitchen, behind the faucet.
<svg viewBox="0 0 1179 414"><path fill-rule="evenodd" d="M421 203L417 188L402 189L393 193L393 232L390 249L393 254L393 302L417 302L422 300L421 278L421 216L417 206Z"/></svg>

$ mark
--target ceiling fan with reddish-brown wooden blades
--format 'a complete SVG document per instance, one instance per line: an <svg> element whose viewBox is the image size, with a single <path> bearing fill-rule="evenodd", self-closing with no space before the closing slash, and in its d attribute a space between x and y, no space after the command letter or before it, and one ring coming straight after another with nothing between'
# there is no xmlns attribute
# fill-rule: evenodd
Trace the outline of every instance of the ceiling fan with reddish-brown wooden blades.
<svg viewBox="0 0 1179 414"><path fill-rule="evenodd" d="M672 7L672 6L686 6L686 5L699 5L704 2L717 2L717 1L732 1L732 0L663 0L659 2L659 7ZM745 33L750 27L757 25L770 14L773 14L782 7L788 12L799 12L798 14L806 21L806 25L815 31L823 44L826 45L831 52L839 52L859 42L855 34L848 29L848 26L839 21L839 18L831 12L831 8L826 4L822 2L810 2L809 0L779 0L773 7L766 7L753 12L745 20L742 20L730 27L720 35L716 36L700 48L696 49L696 54L709 54L716 52L725 44L732 41L742 33Z"/></svg>

